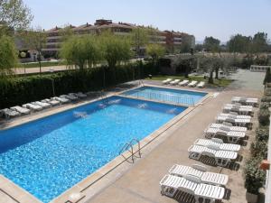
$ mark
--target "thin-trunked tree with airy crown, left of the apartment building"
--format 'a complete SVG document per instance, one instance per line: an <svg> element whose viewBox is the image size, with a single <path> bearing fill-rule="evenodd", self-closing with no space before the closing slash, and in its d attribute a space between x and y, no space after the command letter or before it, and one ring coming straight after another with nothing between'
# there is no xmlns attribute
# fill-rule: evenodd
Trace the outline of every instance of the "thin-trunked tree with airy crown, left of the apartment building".
<svg viewBox="0 0 271 203"><path fill-rule="evenodd" d="M42 73L42 49L46 44L46 33L41 28L36 28L21 32L20 35L27 49L38 51L37 59L39 61L40 73Z"/></svg>

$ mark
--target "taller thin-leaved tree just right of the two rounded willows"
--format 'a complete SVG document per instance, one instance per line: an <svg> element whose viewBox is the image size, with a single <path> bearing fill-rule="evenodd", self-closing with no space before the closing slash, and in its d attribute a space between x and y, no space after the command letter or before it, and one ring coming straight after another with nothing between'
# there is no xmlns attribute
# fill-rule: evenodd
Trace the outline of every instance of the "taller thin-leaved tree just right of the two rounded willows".
<svg viewBox="0 0 271 203"><path fill-rule="evenodd" d="M136 27L131 32L132 46L135 48L137 56L141 55L141 48L149 42L149 32L145 28Z"/></svg>

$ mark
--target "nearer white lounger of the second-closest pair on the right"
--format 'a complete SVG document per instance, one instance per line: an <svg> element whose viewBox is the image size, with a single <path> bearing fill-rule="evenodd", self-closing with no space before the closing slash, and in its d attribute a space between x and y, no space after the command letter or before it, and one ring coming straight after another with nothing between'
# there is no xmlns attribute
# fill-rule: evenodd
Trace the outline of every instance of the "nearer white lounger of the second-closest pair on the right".
<svg viewBox="0 0 271 203"><path fill-rule="evenodd" d="M200 160L202 155L207 155L215 159L216 164L221 167L228 165L229 161L233 161L238 157L237 152L220 150L216 145L200 146L192 145L189 149L189 158Z"/></svg>

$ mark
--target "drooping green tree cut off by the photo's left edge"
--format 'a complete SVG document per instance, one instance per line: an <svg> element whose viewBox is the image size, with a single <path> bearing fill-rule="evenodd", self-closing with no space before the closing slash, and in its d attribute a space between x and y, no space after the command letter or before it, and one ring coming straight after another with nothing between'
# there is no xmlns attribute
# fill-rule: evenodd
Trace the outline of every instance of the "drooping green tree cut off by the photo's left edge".
<svg viewBox="0 0 271 203"><path fill-rule="evenodd" d="M0 36L0 78L5 79L13 74L17 63L17 51L14 40L9 36Z"/></svg>

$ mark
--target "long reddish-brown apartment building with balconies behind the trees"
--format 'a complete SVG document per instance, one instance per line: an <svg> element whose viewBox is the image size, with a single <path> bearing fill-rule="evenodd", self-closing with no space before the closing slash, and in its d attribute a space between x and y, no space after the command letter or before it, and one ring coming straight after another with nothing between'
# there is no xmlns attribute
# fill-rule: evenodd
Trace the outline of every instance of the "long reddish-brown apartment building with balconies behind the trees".
<svg viewBox="0 0 271 203"><path fill-rule="evenodd" d="M133 29L138 27L144 27L141 25L135 25L133 23L113 23L111 20L99 19L94 24L85 23L79 26L69 25L68 27L54 27L51 30L45 31L48 35L46 47L42 50L44 56L55 56L60 50L61 42L63 41L63 31L69 29L74 34L99 34L103 31L111 31L114 34L120 36L128 36ZM145 27L147 28L147 27ZM189 37L194 44L194 36L184 32L170 32L160 31L155 29L155 34L150 36L150 42L163 44L168 51L178 51L178 48L182 45L182 39ZM143 48L145 49L145 48ZM144 51L143 51L144 52Z"/></svg>

